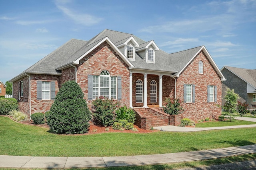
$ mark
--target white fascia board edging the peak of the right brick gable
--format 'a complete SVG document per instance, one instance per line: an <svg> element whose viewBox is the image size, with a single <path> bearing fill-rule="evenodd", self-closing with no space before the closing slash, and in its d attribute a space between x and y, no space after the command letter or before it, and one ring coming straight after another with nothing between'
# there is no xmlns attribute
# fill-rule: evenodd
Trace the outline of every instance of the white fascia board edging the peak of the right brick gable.
<svg viewBox="0 0 256 170"><path fill-rule="evenodd" d="M188 66L188 64L191 63L192 60L194 60L194 58L198 55L198 53L200 53L200 51L203 50L204 53L206 54L206 57L209 59L210 63L213 65L213 67L215 68L215 70L218 72L218 74L220 75L220 80L221 81L225 81L226 78L223 76L222 72L220 71L220 69L218 68L218 66L216 65L216 63L213 61L212 57L210 56L210 54L208 53L208 51L206 50L206 48L204 47L204 45L198 50L198 52L192 57L192 59L190 59L190 61L182 68L182 70L180 70L180 72L178 72L178 74L176 74L177 77L180 76L180 73Z"/></svg>

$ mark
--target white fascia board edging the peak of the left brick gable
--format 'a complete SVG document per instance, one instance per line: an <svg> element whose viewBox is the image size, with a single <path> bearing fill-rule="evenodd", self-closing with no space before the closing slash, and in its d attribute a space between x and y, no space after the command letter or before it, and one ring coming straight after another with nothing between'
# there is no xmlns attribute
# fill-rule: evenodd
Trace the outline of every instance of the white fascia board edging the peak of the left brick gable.
<svg viewBox="0 0 256 170"><path fill-rule="evenodd" d="M99 43L94 45L94 47L92 47L90 50L88 50L86 53L84 53L81 57L79 57L73 63L74 64L79 64L79 61L82 58L84 58L86 55L88 55L90 52L92 52L100 44L104 43L104 41L106 41L114 49L114 51L116 51L116 53L125 61L126 64L128 64L128 66L133 67L132 63L123 55L123 53L116 47L116 45L114 45L114 43L108 37L105 37L104 39L102 39Z"/></svg>

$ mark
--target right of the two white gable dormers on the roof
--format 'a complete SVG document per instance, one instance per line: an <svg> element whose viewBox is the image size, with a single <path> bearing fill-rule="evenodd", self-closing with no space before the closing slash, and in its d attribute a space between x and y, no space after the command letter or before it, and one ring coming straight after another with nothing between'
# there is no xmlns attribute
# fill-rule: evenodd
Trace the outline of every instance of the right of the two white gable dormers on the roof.
<svg viewBox="0 0 256 170"><path fill-rule="evenodd" d="M136 52L140 53L140 56L144 56L146 63L156 63L156 53L159 50L156 43L151 40L146 43L140 44L140 47L136 49Z"/></svg>

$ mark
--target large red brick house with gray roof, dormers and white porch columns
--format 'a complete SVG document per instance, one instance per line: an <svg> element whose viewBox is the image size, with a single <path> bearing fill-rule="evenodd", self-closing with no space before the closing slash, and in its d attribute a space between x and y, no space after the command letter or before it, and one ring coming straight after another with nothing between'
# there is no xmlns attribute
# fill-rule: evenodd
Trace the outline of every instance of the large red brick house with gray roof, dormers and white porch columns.
<svg viewBox="0 0 256 170"><path fill-rule="evenodd" d="M134 108L142 124L138 108L159 113L166 98L184 101L180 117L216 118L225 78L204 46L168 54L153 40L105 29L89 41L71 39L10 81L20 110L31 114L48 111L68 80L80 85L89 108L107 96Z"/></svg>

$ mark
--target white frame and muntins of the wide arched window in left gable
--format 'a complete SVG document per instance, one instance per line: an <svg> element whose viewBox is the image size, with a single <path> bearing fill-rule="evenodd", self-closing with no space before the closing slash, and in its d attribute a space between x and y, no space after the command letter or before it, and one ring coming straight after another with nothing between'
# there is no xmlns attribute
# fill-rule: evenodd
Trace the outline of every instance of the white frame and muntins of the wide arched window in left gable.
<svg viewBox="0 0 256 170"><path fill-rule="evenodd" d="M108 71L106 71L106 70L103 70L102 72L108 72ZM101 89L103 89L103 88L108 88L108 96L104 96L104 97L107 97L107 98L109 98L109 99L114 99L114 100L116 100L117 99L117 77L115 77L115 76L110 76L110 74L109 74L109 72L108 72L108 75L102 75L101 73L102 72L100 72L100 75L99 76L93 76L93 77L98 77L98 87L96 87L96 86L93 86L93 89L95 89L95 88L98 88L98 96L93 96L92 97L92 99L93 100L95 100L97 97L100 97L100 96L102 96L101 94L100 94L100 90ZM109 79L109 87L100 87L100 78L101 77L108 77ZM116 79L116 84L115 84L115 87L111 87L111 78L115 78ZM116 97L115 98L111 98L111 90L112 89L116 89Z"/></svg>

